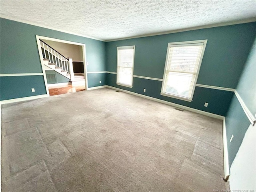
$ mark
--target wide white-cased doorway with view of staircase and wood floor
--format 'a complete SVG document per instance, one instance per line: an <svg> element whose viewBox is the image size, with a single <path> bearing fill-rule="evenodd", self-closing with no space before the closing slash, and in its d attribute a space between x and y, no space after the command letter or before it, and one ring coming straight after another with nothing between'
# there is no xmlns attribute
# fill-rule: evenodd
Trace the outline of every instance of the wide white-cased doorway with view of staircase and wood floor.
<svg viewBox="0 0 256 192"><path fill-rule="evenodd" d="M48 96L88 89L85 44L44 36L36 41Z"/></svg>

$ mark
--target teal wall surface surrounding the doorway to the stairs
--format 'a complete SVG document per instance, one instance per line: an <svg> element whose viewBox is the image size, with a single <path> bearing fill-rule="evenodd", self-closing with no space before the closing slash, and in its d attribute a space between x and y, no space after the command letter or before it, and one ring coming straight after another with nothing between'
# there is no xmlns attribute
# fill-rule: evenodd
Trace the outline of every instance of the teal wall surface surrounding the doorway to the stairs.
<svg viewBox="0 0 256 192"><path fill-rule="evenodd" d="M87 65L88 72L106 71L106 42L7 20L4 18L0 18L0 29L1 74L42 73L36 35L86 44L86 60L89 62L89 65ZM37 80L38 76L30 76L30 78L32 78L31 81L27 81L27 78L22 76L19 78L1 78L0 84L2 90L0 91L0 100L21 98L24 97L24 95L34 96L46 94L44 79L41 78L40 80ZM35 80L33 80L33 78L35 78ZM103 80L101 78L103 78ZM105 78L106 74L94 77L93 79L90 79L90 76L88 76L88 84L97 84L96 82L99 82L100 80L105 82ZM17 79L19 82L16 82ZM4 87L13 89L16 87L16 84L26 84L27 87L31 87L34 86L34 81L37 81L37 85L35 86L36 92L31 92L31 90L26 92L26 89L23 91L26 92L26 94L22 94L18 92L18 90L6 92L4 89Z"/></svg>

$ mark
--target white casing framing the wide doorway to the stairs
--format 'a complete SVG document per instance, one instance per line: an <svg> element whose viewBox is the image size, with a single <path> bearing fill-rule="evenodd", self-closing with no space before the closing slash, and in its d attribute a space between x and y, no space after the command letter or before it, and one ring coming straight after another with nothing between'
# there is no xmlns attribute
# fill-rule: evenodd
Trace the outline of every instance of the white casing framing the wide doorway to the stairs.
<svg viewBox="0 0 256 192"><path fill-rule="evenodd" d="M85 81L85 89L87 90L88 89L88 79L87 79L87 67L86 67L86 45L83 44L83 43L66 41L66 40L61 40L61 39L55 39L55 38L49 38L49 37L36 35L36 42L37 42L37 46L38 46L38 52L39 52L39 57L40 57L40 61L41 61L42 71L43 71L43 74L44 74L44 83L45 83L45 88L46 88L47 95L50 96L49 89L48 89L48 84L47 84L47 79L46 79L46 73L45 73L45 70L44 70L44 61L43 61L43 54L42 54L40 39L82 46L83 59L84 59L84 62L83 62L83 64L84 64L84 81Z"/></svg>

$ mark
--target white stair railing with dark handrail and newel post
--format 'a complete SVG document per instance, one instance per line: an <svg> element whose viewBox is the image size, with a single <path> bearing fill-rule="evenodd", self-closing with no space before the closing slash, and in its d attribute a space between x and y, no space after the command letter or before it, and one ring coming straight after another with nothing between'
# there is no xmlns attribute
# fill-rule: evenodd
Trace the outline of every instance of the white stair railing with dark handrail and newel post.
<svg viewBox="0 0 256 192"><path fill-rule="evenodd" d="M40 45L43 49L43 58L49 59L50 63L55 63L57 67L61 67L62 71L67 71L67 74L70 74L72 80L72 77L74 78L72 58L66 58L42 40L40 40Z"/></svg>

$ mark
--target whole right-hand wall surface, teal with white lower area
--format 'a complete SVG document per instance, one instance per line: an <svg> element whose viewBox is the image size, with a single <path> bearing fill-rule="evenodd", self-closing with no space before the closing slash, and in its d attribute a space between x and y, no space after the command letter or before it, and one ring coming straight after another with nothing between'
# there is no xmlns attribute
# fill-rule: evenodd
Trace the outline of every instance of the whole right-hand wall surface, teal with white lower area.
<svg viewBox="0 0 256 192"><path fill-rule="evenodd" d="M250 112L256 114L256 39L240 76L236 91ZM234 96L226 116L230 189L256 190L255 127ZM230 138L234 135L232 142ZM242 178L242 179L241 179ZM247 187L246 187L247 186ZM254 188L252 188L254 186Z"/></svg>

